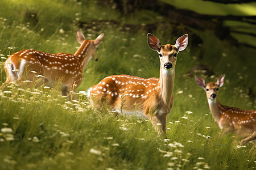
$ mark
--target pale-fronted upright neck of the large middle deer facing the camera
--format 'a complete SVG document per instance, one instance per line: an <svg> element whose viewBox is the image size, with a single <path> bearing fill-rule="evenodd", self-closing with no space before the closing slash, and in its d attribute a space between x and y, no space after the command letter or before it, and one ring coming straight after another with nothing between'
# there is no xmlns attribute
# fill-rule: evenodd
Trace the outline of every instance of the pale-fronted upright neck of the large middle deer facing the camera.
<svg viewBox="0 0 256 170"><path fill-rule="evenodd" d="M174 91L175 68L170 71L160 67L159 92L160 99L167 106L171 105L172 93Z"/></svg>

